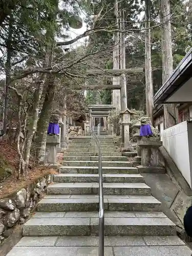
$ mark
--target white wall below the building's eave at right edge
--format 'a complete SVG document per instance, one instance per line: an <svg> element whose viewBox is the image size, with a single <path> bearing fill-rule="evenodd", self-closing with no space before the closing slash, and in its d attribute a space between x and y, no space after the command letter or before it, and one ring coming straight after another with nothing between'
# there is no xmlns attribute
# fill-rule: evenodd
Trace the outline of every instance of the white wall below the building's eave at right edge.
<svg viewBox="0 0 192 256"><path fill-rule="evenodd" d="M162 141L166 151L191 187L192 123L185 121L164 130Z"/></svg>

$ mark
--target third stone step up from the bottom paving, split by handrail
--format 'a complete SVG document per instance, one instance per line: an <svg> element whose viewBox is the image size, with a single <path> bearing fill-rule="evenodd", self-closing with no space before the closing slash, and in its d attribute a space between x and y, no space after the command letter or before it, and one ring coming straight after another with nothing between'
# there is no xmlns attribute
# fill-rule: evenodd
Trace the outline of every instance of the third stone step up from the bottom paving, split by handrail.
<svg viewBox="0 0 192 256"><path fill-rule="evenodd" d="M47 187L47 195L98 195L98 183L56 183ZM151 195L145 183L103 183L104 195Z"/></svg>

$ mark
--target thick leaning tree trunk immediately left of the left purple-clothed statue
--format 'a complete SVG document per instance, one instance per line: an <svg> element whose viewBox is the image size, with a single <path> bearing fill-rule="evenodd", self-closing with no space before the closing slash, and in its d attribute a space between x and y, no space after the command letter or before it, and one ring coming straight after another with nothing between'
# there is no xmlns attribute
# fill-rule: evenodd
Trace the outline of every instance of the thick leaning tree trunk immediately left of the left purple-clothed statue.
<svg viewBox="0 0 192 256"><path fill-rule="evenodd" d="M37 123L37 132L35 138L35 146L36 146L36 160L39 164L45 163L45 151L46 151L46 140L47 140L47 130L49 125L49 120L52 112L52 104L54 100L55 93L55 79L51 74L48 75L46 79L47 91L44 100L44 104L42 105L41 113L39 116L39 120Z"/></svg>

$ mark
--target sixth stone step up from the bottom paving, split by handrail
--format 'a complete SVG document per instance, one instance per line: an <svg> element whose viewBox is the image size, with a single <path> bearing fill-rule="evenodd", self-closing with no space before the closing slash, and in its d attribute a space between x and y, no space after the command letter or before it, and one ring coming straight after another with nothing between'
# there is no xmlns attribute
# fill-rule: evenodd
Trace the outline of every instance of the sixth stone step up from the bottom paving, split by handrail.
<svg viewBox="0 0 192 256"><path fill-rule="evenodd" d="M63 166L98 166L98 161L62 161ZM128 161L102 161L104 167L132 167L133 163Z"/></svg>

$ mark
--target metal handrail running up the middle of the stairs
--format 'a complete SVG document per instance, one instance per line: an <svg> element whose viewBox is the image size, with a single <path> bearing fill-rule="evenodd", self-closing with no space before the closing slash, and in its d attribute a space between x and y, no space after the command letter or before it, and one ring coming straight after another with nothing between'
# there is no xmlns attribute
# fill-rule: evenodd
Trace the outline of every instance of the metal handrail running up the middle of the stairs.
<svg viewBox="0 0 192 256"><path fill-rule="evenodd" d="M102 156L101 146L97 135L92 127L91 139L95 140L98 147L98 174L99 174L99 256L104 256L104 199L103 199L103 180L102 180Z"/></svg>

